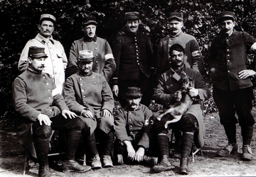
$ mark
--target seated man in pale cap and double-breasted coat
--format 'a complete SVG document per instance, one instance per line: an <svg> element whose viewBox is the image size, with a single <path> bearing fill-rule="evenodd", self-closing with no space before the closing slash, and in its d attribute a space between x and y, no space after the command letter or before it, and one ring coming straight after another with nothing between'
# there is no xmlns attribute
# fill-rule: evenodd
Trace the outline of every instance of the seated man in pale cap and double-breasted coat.
<svg viewBox="0 0 256 177"><path fill-rule="evenodd" d="M64 97L68 108L80 115L84 122L82 136L92 155L92 169L100 169L113 166L110 151L114 141L114 98L105 77L92 72L93 59L92 51L79 52L79 72L66 80ZM96 127L102 137L102 164L95 142Z"/></svg>

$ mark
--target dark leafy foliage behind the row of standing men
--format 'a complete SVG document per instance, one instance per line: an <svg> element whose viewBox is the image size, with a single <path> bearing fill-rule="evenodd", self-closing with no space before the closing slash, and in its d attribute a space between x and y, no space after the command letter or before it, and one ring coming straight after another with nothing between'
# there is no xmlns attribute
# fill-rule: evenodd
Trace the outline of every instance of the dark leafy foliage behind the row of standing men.
<svg viewBox="0 0 256 177"><path fill-rule="evenodd" d="M0 114L12 110L11 84L18 76L18 59L26 42L38 33L37 23L42 13L57 18L53 37L62 42L68 55L73 40L82 38L81 22L85 16L97 18L97 35L112 44L124 27L124 13L139 11L142 28L149 34L156 52L159 40L168 34L166 16L181 11L186 23L184 31L194 35L207 59L210 42L218 31L216 17L220 11L235 11L238 30L255 36L255 0L0 0ZM249 66L254 64L250 54ZM206 65L203 74L210 84ZM215 111L211 98L205 104L206 113Z"/></svg>

